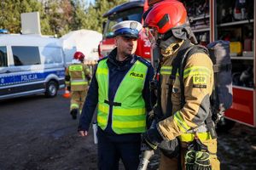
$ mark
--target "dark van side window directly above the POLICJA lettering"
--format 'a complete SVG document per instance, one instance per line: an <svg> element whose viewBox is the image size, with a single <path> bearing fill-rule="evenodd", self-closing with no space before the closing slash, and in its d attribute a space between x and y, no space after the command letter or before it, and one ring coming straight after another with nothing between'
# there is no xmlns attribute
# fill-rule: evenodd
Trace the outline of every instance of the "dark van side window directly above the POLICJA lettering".
<svg viewBox="0 0 256 170"><path fill-rule="evenodd" d="M15 65L40 65L38 47L13 46Z"/></svg>

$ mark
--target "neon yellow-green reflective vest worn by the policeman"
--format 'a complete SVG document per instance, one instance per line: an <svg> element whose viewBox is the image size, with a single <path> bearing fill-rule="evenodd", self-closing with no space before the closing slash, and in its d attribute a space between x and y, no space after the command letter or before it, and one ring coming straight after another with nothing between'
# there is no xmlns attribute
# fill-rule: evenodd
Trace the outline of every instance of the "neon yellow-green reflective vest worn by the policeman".
<svg viewBox="0 0 256 170"><path fill-rule="evenodd" d="M128 71L114 96L112 128L114 133L143 133L146 130L146 110L142 96L148 67L136 61ZM98 82L98 125L104 130L108 125L108 65L107 59L99 62L96 70ZM119 105L114 105L119 104Z"/></svg>

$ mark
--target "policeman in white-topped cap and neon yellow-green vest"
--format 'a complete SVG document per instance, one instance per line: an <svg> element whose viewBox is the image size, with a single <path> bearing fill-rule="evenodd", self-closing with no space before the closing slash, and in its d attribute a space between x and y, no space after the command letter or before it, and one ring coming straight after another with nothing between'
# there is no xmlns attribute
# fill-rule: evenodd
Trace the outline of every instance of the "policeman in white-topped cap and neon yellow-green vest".
<svg viewBox="0 0 256 170"><path fill-rule="evenodd" d="M150 63L135 54L142 25L134 20L113 26L114 48L100 59L92 77L79 122L79 133L87 136L97 108L98 168L118 170L139 164L141 133L151 110L149 82L154 76Z"/></svg>

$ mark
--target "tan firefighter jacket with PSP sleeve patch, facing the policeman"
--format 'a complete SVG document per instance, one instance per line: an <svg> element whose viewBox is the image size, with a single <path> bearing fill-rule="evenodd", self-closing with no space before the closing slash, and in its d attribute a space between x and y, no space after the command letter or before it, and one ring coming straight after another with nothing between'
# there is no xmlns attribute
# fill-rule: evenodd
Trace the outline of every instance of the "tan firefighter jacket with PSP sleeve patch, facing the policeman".
<svg viewBox="0 0 256 170"><path fill-rule="evenodd" d="M183 46L181 46L182 48ZM201 140L210 139L205 120L210 112L210 95L213 87L212 60L204 53L192 54L183 71L185 104L181 108L181 88L178 74L170 80L172 61L177 52L164 57L160 69L161 109L166 114L167 95L172 83L172 113L159 122L158 130L164 139L189 142L196 132Z"/></svg>

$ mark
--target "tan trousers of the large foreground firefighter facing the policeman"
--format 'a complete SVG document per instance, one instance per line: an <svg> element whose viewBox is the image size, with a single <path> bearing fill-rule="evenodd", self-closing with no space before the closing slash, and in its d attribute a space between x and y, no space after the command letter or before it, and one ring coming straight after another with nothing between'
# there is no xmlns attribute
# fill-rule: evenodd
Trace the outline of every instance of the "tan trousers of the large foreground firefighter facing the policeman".
<svg viewBox="0 0 256 170"><path fill-rule="evenodd" d="M217 158L217 139L208 139L205 141L201 141L203 144L207 145L207 148L209 150L210 154L210 162L212 165L212 170L219 170L220 169L220 163ZM181 163L182 163L182 169L185 170L185 154L187 152L187 145L188 143L182 142L182 152L181 152ZM177 158L168 158L164 156L161 153L160 156L160 170L177 170Z"/></svg>

